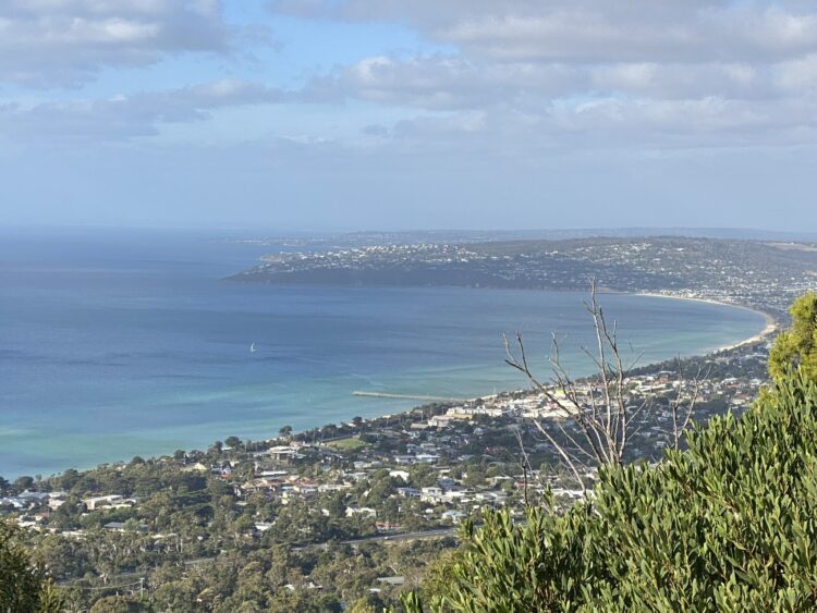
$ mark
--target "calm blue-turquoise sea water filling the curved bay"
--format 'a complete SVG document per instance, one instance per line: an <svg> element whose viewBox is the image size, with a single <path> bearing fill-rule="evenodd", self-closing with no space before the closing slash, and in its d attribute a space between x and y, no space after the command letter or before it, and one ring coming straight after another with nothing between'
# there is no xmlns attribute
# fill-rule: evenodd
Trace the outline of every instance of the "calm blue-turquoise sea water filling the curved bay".
<svg viewBox="0 0 817 613"><path fill-rule="evenodd" d="M503 331L524 331L542 369L558 331L573 371L587 371L583 294L242 285L222 279L270 247L224 235L0 231L0 475L417 404L355 390L471 397L524 387L503 365ZM757 314L699 303L603 304L643 363L764 327Z"/></svg>

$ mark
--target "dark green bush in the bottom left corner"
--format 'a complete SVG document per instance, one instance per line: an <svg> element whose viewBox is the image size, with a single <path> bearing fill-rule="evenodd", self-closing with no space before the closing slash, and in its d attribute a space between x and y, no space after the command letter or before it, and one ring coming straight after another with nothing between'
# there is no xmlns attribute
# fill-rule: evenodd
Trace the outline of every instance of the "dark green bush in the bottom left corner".
<svg viewBox="0 0 817 613"><path fill-rule="evenodd" d="M56 613L61 609L58 590L17 542L17 529L0 520L0 611Z"/></svg>

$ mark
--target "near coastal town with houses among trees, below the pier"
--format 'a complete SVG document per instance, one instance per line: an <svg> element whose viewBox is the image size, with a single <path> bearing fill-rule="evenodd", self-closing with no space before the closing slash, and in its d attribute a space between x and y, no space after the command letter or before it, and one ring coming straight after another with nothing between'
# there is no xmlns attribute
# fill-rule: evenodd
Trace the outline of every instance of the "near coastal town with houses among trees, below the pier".
<svg viewBox="0 0 817 613"><path fill-rule="evenodd" d="M768 347L764 339L627 373L627 402L649 406L634 424L629 459L651 463L672 446L671 406L682 396L695 395L696 422L745 410L766 381ZM589 397L596 384L582 380L576 389ZM146 589L169 602L195 590L196 573L221 565L233 568L230 590L240 592L246 560L227 552L255 560L270 547L283 560L275 580L286 598L322 599L327 610L361 599L389 603L416 587L425 554L454 547L458 527L478 523L484 510L510 508L522 519L528 504L566 506L587 495L593 467L577 482L537 427L573 427L564 400L558 387L519 390L20 477L0 481L0 508L45 552L77 610L100 593ZM326 574L324 559L339 551L365 561L359 581Z"/></svg>

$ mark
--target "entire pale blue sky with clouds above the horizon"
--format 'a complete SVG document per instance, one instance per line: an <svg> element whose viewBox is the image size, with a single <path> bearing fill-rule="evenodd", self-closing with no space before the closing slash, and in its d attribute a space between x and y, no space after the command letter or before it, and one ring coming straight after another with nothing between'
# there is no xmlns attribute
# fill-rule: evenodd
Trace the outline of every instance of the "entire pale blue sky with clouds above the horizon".
<svg viewBox="0 0 817 613"><path fill-rule="evenodd" d="M817 231L814 0L1 0L0 223Z"/></svg>

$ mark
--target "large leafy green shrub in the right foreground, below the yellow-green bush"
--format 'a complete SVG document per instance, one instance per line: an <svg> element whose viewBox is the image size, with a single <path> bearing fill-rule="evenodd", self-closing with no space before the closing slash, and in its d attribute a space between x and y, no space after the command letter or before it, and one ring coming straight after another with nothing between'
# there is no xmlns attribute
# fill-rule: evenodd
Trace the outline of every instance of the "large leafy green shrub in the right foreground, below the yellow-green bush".
<svg viewBox="0 0 817 613"><path fill-rule="evenodd" d="M426 610L817 610L817 381L781 380L758 408L714 418L656 467L602 470L564 515L466 525Z"/></svg>

